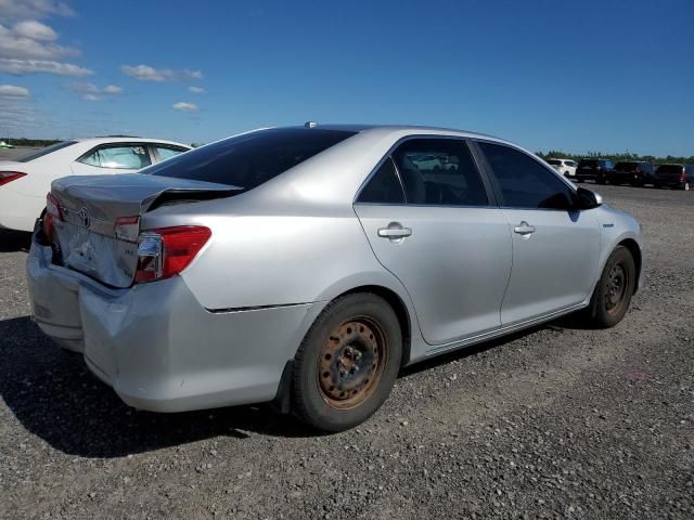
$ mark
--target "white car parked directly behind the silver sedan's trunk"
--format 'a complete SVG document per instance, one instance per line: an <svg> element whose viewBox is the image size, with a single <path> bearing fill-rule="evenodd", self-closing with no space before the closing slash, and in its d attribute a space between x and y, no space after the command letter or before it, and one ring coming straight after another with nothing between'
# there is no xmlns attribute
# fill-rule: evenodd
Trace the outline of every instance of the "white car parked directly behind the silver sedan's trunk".
<svg viewBox="0 0 694 520"><path fill-rule="evenodd" d="M55 179L134 173L189 150L172 141L98 138L63 141L17 160L0 160L0 229L34 230Z"/></svg>

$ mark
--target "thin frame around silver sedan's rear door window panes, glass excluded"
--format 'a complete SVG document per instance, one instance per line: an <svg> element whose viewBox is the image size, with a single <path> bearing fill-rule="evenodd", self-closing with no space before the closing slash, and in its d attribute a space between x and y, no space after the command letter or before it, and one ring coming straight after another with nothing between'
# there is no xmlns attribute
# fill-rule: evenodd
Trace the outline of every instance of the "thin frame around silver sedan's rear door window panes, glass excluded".
<svg viewBox="0 0 694 520"><path fill-rule="evenodd" d="M471 155L471 157L473 159L473 164L475 165L475 168L477 169L477 173L479 174L479 179L481 180L483 186L485 188L485 193L487 195L487 205L485 205L485 206L468 206L468 205L462 206L462 205L441 205L441 204L409 204L408 203L408 194L407 194L407 191L404 190L404 184L402 183L402 179L400 178L400 171L398 169L398 165L395 161L395 159L393 159L393 153L402 143L404 143L407 141L412 141L414 139L429 139L429 140L432 140L432 139L447 139L447 140L452 140L452 141L460 141L462 144L467 146L467 151L470 152L470 155ZM477 157L475 156L474 151L472 150L472 147L468 144L471 141L472 141L471 138L465 138L465 136L462 136L462 135L438 135L438 134L435 134L435 133L425 133L425 134L416 133L416 134L406 135L403 138L398 139L395 142L395 144L393 144L388 148L388 152L386 152L386 154L381 158L381 160L371 170L371 172L367 176L367 179L361 183L361 185L357 190L357 195L352 199L352 203L351 203L352 206L358 205L358 204L363 204L363 205L370 205L370 206L416 206L416 207L423 207L423 208L442 208L442 207L446 207L446 208L490 208L490 209L499 209L499 205L498 205L498 202L497 202L496 194L493 193L493 188L492 188L491 184L488 184L489 180L487 179L487 173L480 167L479 162L477 161ZM364 190L367 184L369 184L371 179L376 174L378 169L383 166L383 164L387 159L393 160L393 166L395 167L396 174L398 176L398 180L400 181L400 188L402 190L402 193L404 195L404 197L403 197L404 198L404 204L360 203L359 202L359 196L361 195L361 192Z"/></svg>

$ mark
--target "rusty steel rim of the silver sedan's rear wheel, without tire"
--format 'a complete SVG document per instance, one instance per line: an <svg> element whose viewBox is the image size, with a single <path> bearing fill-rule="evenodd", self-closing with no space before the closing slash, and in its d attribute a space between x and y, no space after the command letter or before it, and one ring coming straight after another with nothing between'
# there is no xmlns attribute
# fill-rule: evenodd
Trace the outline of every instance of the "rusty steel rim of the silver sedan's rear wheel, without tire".
<svg viewBox="0 0 694 520"><path fill-rule="evenodd" d="M367 316L347 320L327 336L318 359L318 387L325 404L349 410L378 387L388 355L381 325Z"/></svg>

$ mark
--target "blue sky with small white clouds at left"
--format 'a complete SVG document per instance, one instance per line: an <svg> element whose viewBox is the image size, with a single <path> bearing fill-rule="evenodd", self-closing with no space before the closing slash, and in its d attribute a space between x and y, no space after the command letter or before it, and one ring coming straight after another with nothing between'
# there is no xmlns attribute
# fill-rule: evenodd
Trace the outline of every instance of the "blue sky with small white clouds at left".
<svg viewBox="0 0 694 520"><path fill-rule="evenodd" d="M309 119L693 155L694 1L0 0L0 135Z"/></svg>

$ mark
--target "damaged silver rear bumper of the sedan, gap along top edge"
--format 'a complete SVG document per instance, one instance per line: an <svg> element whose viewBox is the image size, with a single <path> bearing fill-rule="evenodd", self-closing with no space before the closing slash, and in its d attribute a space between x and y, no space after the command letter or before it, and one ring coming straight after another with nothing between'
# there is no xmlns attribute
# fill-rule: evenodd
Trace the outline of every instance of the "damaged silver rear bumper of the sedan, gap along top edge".
<svg viewBox="0 0 694 520"><path fill-rule="evenodd" d="M34 238L27 283L34 318L80 352L127 404L183 412L275 398L320 303L210 312L180 276L108 288L51 263Z"/></svg>

